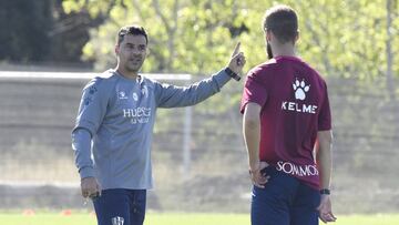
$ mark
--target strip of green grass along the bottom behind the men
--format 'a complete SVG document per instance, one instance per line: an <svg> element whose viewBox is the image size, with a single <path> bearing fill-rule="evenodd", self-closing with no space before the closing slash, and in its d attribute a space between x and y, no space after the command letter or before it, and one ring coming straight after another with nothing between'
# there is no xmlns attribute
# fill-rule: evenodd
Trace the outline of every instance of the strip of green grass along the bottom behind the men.
<svg viewBox="0 0 399 225"><path fill-rule="evenodd" d="M22 215L17 213L1 213L0 224L4 225L95 225L93 214L72 213L39 213ZM249 215L245 214L178 214L149 213L146 225L246 225ZM323 224L323 223L320 223ZM399 214L381 215L338 215L334 225L398 225Z"/></svg>

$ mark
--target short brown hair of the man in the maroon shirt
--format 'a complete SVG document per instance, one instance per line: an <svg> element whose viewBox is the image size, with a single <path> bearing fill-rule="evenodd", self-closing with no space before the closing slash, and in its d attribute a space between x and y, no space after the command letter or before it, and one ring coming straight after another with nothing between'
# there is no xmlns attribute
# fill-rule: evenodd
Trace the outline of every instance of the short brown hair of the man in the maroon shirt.
<svg viewBox="0 0 399 225"><path fill-rule="evenodd" d="M295 41L298 35L297 14L288 6L275 6L266 11L263 29L272 31L280 43Z"/></svg>

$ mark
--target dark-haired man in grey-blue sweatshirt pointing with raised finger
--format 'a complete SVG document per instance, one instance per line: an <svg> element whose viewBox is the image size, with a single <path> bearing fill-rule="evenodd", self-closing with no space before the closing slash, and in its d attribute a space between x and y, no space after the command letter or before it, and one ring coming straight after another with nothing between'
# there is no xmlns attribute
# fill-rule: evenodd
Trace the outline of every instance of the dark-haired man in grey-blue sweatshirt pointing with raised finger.
<svg viewBox="0 0 399 225"><path fill-rule="evenodd" d="M144 28L119 31L117 65L83 89L72 149L83 197L93 200L99 225L143 224L152 188L151 143L157 108L200 103L239 80L245 57L236 45L227 67L190 86L158 83L139 73L147 52ZM93 156L93 157L92 157Z"/></svg>

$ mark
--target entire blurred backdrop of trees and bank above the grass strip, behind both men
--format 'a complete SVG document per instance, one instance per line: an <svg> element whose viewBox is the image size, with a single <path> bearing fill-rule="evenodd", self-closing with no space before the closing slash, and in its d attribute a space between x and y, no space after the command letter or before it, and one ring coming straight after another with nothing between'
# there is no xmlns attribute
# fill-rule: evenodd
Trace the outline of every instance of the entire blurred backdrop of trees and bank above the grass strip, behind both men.
<svg viewBox="0 0 399 225"><path fill-rule="evenodd" d="M84 84L115 67L121 27L149 32L143 73L184 85L224 68L238 40L245 71L264 62L262 20L276 3L296 9L298 54L329 86L335 212L398 213L398 0L0 0L0 209L92 207L70 133ZM243 83L158 111L150 211L249 211Z"/></svg>

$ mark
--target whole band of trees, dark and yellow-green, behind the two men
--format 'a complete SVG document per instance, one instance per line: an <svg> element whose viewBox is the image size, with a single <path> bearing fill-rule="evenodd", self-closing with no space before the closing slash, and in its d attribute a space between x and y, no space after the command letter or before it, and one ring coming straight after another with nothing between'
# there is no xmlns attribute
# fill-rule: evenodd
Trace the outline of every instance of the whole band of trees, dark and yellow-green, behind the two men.
<svg viewBox="0 0 399 225"><path fill-rule="evenodd" d="M395 99L399 70L395 63L399 51L397 0L282 3L300 16L298 48L305 60L326 75L358 81L383 76L389 96ZM84 60L103 70L115 63L117 29L140 23L151 38L145 72L213 72L238 39L243 50L250 52L250 68L265 60L260 21L263 9L270 4L266 0L2 0L0 60Z"/></svg>

